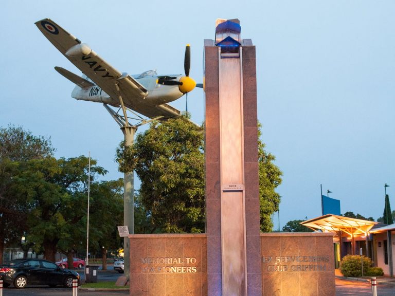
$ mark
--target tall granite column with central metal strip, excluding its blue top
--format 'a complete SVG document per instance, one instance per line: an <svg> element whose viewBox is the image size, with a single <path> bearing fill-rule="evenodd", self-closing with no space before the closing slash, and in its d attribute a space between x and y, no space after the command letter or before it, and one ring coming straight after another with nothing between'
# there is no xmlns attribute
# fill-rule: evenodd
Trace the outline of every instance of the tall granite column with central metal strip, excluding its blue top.
<svg viewBox="0 0 395 296"><path fill-rule="evenodd" d="M208 295L261 296L255 46L243 40L240 61L204 50Z"/></svg>

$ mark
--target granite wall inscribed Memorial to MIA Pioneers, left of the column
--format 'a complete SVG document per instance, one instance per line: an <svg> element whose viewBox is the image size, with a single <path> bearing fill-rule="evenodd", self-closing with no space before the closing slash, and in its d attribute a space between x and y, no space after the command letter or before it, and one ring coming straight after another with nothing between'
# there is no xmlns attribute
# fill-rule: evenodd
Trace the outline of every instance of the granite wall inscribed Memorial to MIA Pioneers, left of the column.
<svg viewBox="0 0 395 296"><path fill-rule="evenodd" d="M130 295L207 296L205 234L132 234Z"/></svg>

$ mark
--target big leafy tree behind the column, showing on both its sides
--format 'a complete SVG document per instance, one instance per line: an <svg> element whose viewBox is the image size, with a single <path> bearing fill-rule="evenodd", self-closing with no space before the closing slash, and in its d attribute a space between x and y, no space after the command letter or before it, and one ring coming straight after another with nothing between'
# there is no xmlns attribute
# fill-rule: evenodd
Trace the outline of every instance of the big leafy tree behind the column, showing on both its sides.
<svg viewBox="0 0 395 296"><path fill-rule="evenodd" d="M259 136L260 131L258 130ZM153 122L138 134L134 145L117 150L121 172L136 172L141 180L138 192L144 226L141 231L204 231L204 142L203 127L184 115L159 124ZM281 171L274 156L258 142L261 230L271 231L272 214L278 210Z"/></svg>

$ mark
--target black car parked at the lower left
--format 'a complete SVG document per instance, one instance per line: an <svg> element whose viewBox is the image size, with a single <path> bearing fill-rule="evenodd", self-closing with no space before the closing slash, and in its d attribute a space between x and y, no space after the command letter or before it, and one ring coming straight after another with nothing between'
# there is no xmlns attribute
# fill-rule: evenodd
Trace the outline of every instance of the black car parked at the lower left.
<svg viewBox="0 0 395 296"><path fill-rule="evenodd" d="M4 287L13 284L18 289L26 285L62 285L71 288L75 279L80 283L78 272L62 269L42 259L16 259L9 265L0 266L0 280L3 280Z"/></svg>

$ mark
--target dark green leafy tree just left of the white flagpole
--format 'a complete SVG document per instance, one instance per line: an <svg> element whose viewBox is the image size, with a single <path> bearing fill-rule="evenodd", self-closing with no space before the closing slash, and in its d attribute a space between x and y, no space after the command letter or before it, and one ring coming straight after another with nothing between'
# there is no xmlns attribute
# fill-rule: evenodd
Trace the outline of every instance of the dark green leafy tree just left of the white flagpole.
<svg viewBox="0 0 395 296"><path fill-rule="evenodd" d="M103 175L105 170L91 160L91 176ZM27 239L34 249L44 249L44 257L55 261L61 238L71 234L70 225L84 215L86 205L88 159L46 158L22 164L20 174L14 177L17 198L26 199ZM85 194L82 194L85 193Z"/></svg>

